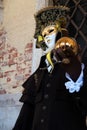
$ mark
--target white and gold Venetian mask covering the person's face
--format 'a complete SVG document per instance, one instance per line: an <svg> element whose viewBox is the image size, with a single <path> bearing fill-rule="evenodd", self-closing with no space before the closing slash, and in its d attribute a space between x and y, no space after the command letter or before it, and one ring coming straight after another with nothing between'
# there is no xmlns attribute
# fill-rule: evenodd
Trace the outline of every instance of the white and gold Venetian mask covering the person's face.
<svg viewBox="0 0 87 130"><path fill-rule="evenodd" d="M42 36L43 36L44 42L47 46L44 53L48 53L49 51L51 51L54 48L57 31L58 30L55 25L47 26L42 31Z"/></svg>

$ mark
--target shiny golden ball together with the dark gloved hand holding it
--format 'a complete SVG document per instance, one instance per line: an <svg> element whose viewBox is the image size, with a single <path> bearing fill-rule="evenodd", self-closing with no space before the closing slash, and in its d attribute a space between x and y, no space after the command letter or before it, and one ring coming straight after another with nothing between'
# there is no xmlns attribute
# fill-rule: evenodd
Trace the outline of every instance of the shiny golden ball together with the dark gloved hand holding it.
<svg viewBox="0 0 87 130"><path fill-rule="evenodd" d="M69 64L72 57L75 57L79 52L79 46L76 41L69 37L60 38L52 51L57 62Z"/></svg>

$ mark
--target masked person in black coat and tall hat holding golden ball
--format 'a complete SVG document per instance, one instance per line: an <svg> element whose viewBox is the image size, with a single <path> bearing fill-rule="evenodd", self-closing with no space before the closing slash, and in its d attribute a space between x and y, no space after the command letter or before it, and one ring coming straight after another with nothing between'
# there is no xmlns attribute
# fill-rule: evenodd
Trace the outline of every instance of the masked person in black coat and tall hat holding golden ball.
<svg viewBox="0 0 87 130"><path fill-rule="evenodd" d="M67 36L67 7L47 7L36 15L36 46L44 55L24 82L22 109L13 130L87 130L87 65Z"/></svg>

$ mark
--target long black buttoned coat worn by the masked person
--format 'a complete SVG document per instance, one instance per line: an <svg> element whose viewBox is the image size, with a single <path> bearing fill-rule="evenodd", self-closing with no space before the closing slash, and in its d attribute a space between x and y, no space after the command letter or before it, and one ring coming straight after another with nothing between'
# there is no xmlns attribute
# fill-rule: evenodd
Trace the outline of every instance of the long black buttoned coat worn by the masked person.
<svg viewBox="0 0 87 130"><path fill-rule="evenodd" d="M23 84L24 104L13 130L87 130L87 58L83 58L84 85L74 93L65 88L64 70L56 64L50 74L44 61L45 56Z"/></svg>

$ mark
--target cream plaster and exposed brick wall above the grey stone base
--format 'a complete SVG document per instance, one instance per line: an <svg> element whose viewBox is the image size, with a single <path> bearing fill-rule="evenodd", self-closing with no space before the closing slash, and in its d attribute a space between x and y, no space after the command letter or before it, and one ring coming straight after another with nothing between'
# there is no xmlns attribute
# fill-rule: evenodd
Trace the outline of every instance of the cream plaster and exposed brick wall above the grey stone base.
<svg viewBox="0 0 87 130"><path fill-rule="evenodd" d="M0 57L0 93L21 91L21 84L30 76L34 34L35 2L28 0L5 0L5 32Z"/></svg>

